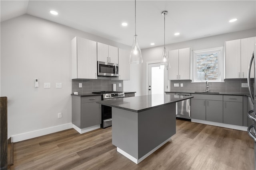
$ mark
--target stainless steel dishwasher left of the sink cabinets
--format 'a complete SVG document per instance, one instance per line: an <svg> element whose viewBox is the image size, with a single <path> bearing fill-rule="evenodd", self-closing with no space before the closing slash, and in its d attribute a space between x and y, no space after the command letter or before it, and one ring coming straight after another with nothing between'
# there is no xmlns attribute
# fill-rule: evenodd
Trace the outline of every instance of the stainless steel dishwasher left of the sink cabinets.
<svg viewBox="0 0 256 170"><path fill-rule="evenodd" d="M175 95L191 96L189 93L176 93ZM190 113L191 113L190 112L190 99L183 100L181 102L176 103L176 117L191 120Z"/></svg>

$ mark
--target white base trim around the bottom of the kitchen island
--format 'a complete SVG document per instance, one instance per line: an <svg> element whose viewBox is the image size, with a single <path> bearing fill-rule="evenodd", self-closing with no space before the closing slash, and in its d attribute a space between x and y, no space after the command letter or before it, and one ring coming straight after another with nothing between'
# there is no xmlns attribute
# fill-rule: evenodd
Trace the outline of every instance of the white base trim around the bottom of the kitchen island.
<svg viewBox="0 0 256 170"><path fill-rule="evenodd" d="M155 147L154 149L152 149L150 152L148 152L144 156L142 156L140 159L134 158L132 155L126 153L124 150L122 150L122 149L120 149L118 147L116 147L116 151L119 152L120 154L124 155L126 158L130 159L132 162L138 164L138 163L140 163L142 160L144 160L146 157L148 157L150 154L152 154L153 152L158 150L160 147L162 147L164 144L166 144L170 140L171 140L171 137L169 139L167 139L166 141L164 141L163 143L161 143L160 145L158 145L157 147Z"/></svg>

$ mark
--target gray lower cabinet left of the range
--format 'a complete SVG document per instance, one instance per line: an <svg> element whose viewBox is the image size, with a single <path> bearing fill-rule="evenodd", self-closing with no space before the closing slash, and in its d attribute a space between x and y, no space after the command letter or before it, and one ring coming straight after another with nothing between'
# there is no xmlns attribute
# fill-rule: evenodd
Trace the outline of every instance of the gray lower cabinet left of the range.
<svg viewBox="0 0 256 170"><path fill-rule="evenodd" d="M101 96L72 96L72 123L80 129L101 124Z"/></svg>

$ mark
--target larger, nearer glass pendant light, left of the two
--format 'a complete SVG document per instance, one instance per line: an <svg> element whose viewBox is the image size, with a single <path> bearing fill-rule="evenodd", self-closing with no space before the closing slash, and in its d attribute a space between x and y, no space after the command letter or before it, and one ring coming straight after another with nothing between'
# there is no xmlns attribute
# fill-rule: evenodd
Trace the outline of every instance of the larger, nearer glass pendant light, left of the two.
<svg viewBox="0 0 256 170"><path fill-rule="evenodd" d="M136 0L135 0L135 35L133 37L132 51L130 53L130 59L129 59L130 64L143 63L137 36L138 35L136 35Z"/></svg>

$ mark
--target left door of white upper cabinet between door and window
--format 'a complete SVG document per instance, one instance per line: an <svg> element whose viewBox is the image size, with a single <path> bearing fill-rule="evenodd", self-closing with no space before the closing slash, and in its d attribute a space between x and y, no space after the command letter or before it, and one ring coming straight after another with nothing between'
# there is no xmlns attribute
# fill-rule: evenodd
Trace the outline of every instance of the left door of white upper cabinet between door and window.
<svg viewBox="0 0 256 170"><path fill-rule="evenodd" d="M179 50L168 51L170 68L168 68L168 80L178 80L179 74Z"/></svg>

